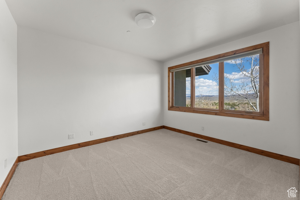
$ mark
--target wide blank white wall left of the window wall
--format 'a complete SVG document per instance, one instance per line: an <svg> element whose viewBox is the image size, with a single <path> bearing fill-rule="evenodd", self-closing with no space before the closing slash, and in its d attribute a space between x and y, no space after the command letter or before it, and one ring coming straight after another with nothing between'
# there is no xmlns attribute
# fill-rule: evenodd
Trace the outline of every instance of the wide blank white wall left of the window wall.
<svg viewBox="0 0 300 200"><path fill-rule="evenodd" d="M19 155L163 125L162 74L163 63L18 26Z"/></svg>

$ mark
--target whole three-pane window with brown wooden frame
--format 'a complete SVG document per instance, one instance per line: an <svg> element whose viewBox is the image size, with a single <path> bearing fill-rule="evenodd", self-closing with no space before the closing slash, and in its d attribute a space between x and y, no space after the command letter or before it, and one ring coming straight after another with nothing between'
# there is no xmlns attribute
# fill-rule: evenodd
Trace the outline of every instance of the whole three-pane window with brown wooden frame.
<svg viewBox="0 0 300 200"><path fill-rule="evenodd" d="M269 120L269 42L168 68L168 109Z"/></svg>

